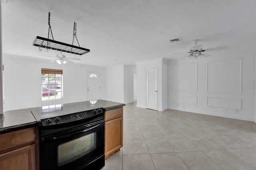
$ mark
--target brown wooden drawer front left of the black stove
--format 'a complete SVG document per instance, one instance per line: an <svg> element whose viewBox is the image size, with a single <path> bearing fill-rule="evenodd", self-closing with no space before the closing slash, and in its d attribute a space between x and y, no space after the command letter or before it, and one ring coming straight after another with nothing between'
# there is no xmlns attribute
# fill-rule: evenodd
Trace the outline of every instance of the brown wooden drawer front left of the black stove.
<svg viewBox="0 0 256 170"><path fill-rule="evenodd" d="M36 140L36 129L26 128L0 135L0 151L14 148L16 146L34 142Z"/></svg>

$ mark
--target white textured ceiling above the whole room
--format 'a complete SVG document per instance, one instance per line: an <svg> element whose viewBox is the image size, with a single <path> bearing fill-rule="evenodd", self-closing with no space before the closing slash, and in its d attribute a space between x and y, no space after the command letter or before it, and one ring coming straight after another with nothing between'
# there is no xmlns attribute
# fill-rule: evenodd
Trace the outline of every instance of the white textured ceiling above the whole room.
<svg viewBox="0 0 256 170"><path fill-rule="evenodd" d="M2 1L4 2L4 0ZM52 60L59 51L38 51L36 36L48 36L48 11L54 40L72 44L74 20L86 65L135 65L164 57L179 59L201 40L219 55L256 47L256 0L10 0L2 3L3 53ZM181 37L183 41L168 40ZM74 45L78 45L74 42ZM186 54L185 54L186 55ZM114 61L116 60L116 61Z"/></svg>

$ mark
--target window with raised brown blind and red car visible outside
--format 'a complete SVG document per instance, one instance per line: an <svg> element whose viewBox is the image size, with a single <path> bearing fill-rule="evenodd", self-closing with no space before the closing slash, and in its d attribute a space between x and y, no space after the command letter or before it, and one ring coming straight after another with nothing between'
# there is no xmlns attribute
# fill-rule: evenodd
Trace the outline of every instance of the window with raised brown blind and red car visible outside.
<svg viewBox="0 0 256 170"><path fill-rule="evenodd" d="M63 99L62 70L42 69L42 101Z"/></svg>

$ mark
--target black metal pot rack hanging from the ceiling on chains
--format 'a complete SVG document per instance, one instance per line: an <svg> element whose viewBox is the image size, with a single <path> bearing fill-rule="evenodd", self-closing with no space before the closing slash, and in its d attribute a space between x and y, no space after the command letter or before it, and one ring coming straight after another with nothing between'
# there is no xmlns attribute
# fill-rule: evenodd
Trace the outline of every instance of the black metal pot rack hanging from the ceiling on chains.
<svg viewBox="0 0 256 170"><path fill-rule="evenodd" d="M39 47L38 51L42 51L44 49L44 51L48 51L49 49L53 49L53 50L57 50L57 51L62 51L62 52L66 52L66 53L72 53L72 54L77 54L77 55L83 55L85 53L90 52L90 49L86 49L83 47L80 47L79 43L79 47L74 44L74 38L76 37L76 22L74 22L74 30L73 30L73 42L72 45L71 44L67 44L67 43L63 43L63 42L58 42L55 41L52 35L52 27L50 25L50 12L48 12L48 25L49 25L49 29L48 29L48 38L43 38L40 36L36 36L33 45ZM49 34L51 32L52 35L52 40L49 39ZM77 37L76 37L77 40ZM77 40L78 42L78 40Z"/></svg>

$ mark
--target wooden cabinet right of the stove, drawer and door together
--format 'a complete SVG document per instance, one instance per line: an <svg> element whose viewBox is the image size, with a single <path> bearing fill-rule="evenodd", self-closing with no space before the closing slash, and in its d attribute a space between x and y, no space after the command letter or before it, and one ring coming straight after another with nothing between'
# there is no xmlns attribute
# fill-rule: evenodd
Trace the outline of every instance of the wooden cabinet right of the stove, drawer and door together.
<svg viewBox="0 0 256 170"><path fill-rule="evenodd" d="M105 159L123 146L123 107L105 113Z"/></svg>

